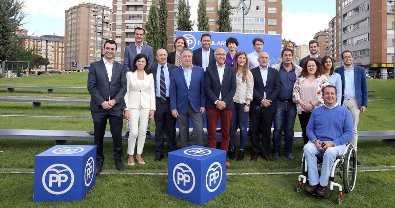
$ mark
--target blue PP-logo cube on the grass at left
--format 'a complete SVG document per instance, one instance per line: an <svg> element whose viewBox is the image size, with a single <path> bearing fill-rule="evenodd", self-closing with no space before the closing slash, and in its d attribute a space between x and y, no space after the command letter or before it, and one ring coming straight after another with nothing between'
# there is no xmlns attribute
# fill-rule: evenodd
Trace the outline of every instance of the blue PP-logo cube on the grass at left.
<svg viewBox="0 0 395 208"><path fill-rule="evenodd" d="M96 146L56 145L35 156L33 201L84 199L96 182Z"/></svg>

